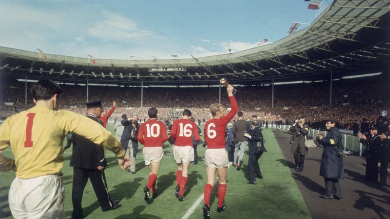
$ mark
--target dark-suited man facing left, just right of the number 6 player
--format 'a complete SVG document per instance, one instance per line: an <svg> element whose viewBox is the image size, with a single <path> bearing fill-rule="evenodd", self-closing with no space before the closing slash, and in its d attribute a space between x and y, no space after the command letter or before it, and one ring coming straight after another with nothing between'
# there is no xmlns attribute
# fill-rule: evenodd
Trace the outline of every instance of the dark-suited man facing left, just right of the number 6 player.
<svg viewBox="0 0 390 219"><path fill-rule="evenodd" d="M267 149L264 147L263 133L258 128L257 120L252 121L250 132L245 133L244 136L247 137L249 141L248 184L256 184L255 176L261 179L263 178L260 167L258 166L258 159L263 155L264 152L267 152Z"/></svg>

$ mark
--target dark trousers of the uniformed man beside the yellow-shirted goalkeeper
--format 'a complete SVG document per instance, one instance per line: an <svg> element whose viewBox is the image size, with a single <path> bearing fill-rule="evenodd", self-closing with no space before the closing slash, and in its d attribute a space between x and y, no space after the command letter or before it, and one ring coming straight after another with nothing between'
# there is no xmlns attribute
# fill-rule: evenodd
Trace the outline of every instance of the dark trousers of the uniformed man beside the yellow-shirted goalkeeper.
<svg viewBox="0 0 390 219"><path fill-rule="evenodd" d="M99 200L102 210L108 210L112 207L112 201L108 194L106 176L104 170L84 169L73 167L73 186L72 186L72 218L83 218L83 208L81 201L88 178L91 181L95 195Z"/></svg>

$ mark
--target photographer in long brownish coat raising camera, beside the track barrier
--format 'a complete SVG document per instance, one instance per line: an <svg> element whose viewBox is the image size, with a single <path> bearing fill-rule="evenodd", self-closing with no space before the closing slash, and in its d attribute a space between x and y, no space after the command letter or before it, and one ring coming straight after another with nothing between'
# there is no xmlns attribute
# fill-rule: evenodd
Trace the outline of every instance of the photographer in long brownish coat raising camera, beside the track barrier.
<svg viewBox="0 0 390 219"><path fill-rule="evenodd" d="M293 126L290 127L290 132L293 133L290 143L291 153L294 155L296 164L295 170L301 172L305 162L305 155L308 153L308 149L305 148L305 136L309 132L309 126L305 124L305 118L301 117L296 120Z"/></svg>

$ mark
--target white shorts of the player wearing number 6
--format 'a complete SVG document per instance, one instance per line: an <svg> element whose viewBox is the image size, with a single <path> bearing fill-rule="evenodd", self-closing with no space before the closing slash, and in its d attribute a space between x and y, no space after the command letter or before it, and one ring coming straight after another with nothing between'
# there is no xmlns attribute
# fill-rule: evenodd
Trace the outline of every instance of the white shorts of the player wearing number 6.
<svg viewBox="0 0 390 219"><path fill-rule="evenodd" d="M206 149L205 165L206 167L215 167L217 169L227 167L229 164L228 152L225 149Z"/></svg>

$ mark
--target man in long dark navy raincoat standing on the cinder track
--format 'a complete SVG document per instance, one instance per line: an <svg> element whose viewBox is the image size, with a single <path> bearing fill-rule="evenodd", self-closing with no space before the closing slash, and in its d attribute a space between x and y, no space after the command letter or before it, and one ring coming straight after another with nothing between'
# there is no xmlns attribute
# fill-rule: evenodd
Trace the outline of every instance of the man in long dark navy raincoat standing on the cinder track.
<svg viewBox="0 0 390 219"><path fill-rule="evenodd" d="M330 120L335 122L335 120ZM341 200L339 179L344 178L343 157L337 156L336 149L341 149L342 136L338 128L332 127L326 137L319 140L323 146L319 175L324 177L327 194L322 198Z"/></svg>

